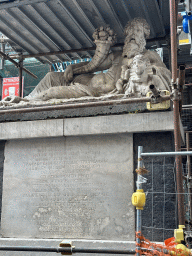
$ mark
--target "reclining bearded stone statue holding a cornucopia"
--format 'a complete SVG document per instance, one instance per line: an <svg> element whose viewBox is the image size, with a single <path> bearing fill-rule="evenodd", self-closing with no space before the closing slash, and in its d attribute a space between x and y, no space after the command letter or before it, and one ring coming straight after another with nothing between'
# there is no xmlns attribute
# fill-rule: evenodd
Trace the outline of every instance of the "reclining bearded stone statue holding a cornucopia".
<svg viewBox="0 0 192 256"><path fill-rule="evenodd" d="M91 62L72 64L64 73L49 72L24 100L46 101L107 94L145 96L148 85L152 83L161 90L170 90L170 71L156 52L145 49L149 35L146 20L135 18L125 27L123 51L110 53L116 35L109 27L100 27L93 34L97 47ZM108 71L94 74L103 70ZM20 100L17 97L16 102ZM5 101L14 102L14 99L7 97Z"/></svg>

